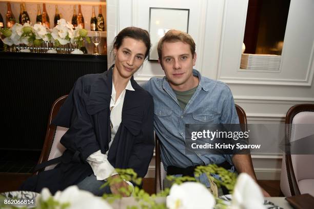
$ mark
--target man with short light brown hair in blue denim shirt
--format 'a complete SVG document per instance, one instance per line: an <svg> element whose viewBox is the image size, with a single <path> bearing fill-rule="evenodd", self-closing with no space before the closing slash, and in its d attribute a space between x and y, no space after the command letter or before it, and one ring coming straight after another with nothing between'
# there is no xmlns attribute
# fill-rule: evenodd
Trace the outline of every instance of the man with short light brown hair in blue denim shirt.
<svg viewBox="0 0 314 209"><path fill-rule="evenodd" d="M169 30L159 41L158 55L166 77L152 78L143 87L153 96L154 129L167 174L169 168L185 172L198 165L228 162L256 180L250 155L185 154L185 124L235 124L239 118L229 87L193 69L197 54L189 34Z"/></svg>

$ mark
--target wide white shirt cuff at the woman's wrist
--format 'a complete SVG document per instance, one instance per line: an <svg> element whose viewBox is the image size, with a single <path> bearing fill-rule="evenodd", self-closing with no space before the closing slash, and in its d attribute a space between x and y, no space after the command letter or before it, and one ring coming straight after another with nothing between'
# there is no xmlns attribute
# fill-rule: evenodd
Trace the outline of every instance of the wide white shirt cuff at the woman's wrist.
<svg viewBox="0 0 314 209"><path fill-rule="evenodd" d="M109 163L107 155L102 154L101 150L91 154L86 161L91 166L97 180L104 180L117 174L114 167Z"/></svg>

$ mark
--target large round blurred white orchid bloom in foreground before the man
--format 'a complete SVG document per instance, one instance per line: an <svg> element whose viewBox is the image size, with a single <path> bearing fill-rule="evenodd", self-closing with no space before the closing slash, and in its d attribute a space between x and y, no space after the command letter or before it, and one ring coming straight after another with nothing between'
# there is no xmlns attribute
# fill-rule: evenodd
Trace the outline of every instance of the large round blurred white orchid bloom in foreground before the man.
<svg viewBox="0 0 314 209"><path fill-rule="evenodd" d="M203 184L184 182L171 186L166 205L170 209L210 209L215 199Z"/></svg>

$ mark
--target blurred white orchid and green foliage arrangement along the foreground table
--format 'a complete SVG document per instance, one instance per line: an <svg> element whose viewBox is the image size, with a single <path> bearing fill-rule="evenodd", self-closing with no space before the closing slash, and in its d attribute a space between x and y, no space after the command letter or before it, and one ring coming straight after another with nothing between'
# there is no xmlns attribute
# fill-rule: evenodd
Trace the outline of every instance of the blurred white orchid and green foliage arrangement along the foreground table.
<svg viewBox="0 0 314 209"><path fill-rule="evenodd" d="M142 178L138 178L132 169L116 169L120 178L108 178L103 186L112 185L126 180L135 184L141 184ZM213 172L210 173L209 172ZM128 206L129 209L153 208L153 209L240 209L240 208L266 208L264 198L258 184L247 174L242 173L238 178L228 170L217 165L199 166L195 170L195 177L205 174L212 182L220 187L226 186L232 193L231 201L226 201L212 194L212 192L198 178L177 177L173 179L171 188L166 188L159 194L149 195L138 186L134 188L121 188L121 194L132 196L135 205ZM214 174L224 175L221 179L211 178ZM188 180L188 182L187 182ZM190 181L193 180L193 181ZM254 192L252 192L254 191ZM159 201L159 197L166 197ZM77 186L70 186L64 191L51 195L47 188L44 188L36 197L36 208L112 208L114 201L119 201L121 195L104 194L103 197L95 197L93 194L78 189ZM1 197L0 197L1 199ZM227 198L228 199L228 198ZM114 203L113 203L114 204ZM134 204L134 202L133 202ZM0 204L0 207L3 206ZM6 205L7 206L7 205ZM6 207L13 208L13 207Z"/></svg>

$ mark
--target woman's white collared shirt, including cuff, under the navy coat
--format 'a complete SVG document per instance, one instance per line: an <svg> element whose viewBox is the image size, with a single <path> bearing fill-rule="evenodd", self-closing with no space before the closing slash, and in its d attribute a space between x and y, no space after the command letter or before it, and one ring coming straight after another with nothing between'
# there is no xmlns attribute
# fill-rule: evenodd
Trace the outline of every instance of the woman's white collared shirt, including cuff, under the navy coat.
<svg viewBox="0 0 314 209"><path fill-rule="evenodd" d="M115 101L116 91L112 81L110 101L111 141L109 142L109 149L122 120L122 107L126 90L134 91L130 80L125 89L121 92L119 98ZM108 151L106 154L102 154L101 150L98 150L95 153L91 154L86 160L93 169L94 175L96 176L97 180L104 180L110 176L117 174L114 171L114 167L109 163L107 159Z"/></svg>

